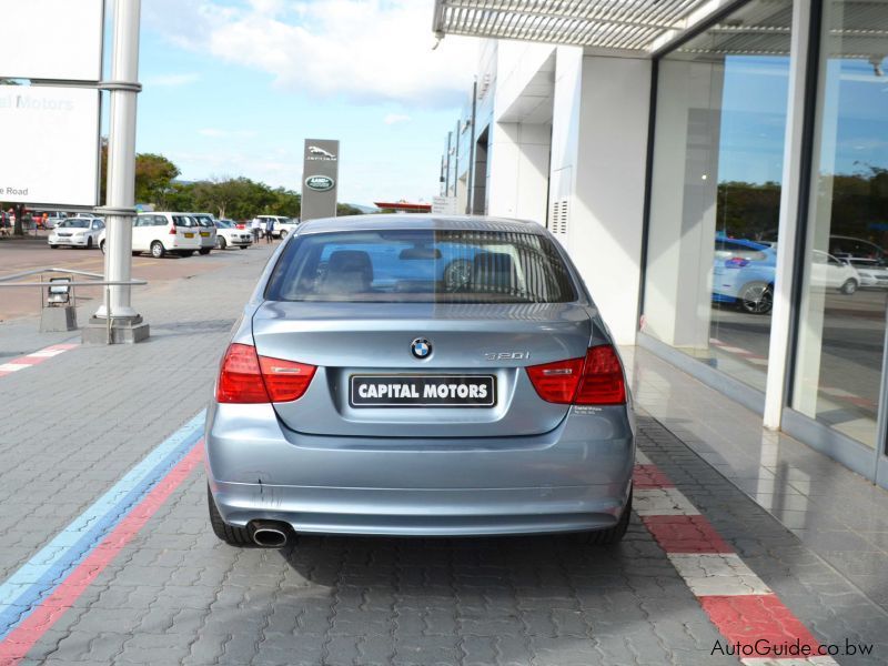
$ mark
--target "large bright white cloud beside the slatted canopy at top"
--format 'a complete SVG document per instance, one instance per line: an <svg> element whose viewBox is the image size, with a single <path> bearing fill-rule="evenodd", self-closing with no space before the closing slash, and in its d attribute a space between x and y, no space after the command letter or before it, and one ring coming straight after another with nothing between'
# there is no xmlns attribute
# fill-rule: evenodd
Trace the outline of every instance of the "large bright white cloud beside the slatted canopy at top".
<svg viewBox="0 0 888 666"><path fill-rule="evenodd" d="M271 74L280 88L363 103L443 107L467 94L475 40L432 50L431 1L153 0L145 20L174 43Z"/></svg>

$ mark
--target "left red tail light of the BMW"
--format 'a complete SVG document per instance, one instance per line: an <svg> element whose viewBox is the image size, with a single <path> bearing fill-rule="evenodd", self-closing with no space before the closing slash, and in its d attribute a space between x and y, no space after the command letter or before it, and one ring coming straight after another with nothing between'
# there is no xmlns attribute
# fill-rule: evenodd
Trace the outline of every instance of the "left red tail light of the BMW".
<svg viewBox="0 0 888 666"><path fill-rule="evenodd" d="M229 345L219 371L215 397L221 403L292 402L309 389L314 365L256 354L254 346Z"/></svg>

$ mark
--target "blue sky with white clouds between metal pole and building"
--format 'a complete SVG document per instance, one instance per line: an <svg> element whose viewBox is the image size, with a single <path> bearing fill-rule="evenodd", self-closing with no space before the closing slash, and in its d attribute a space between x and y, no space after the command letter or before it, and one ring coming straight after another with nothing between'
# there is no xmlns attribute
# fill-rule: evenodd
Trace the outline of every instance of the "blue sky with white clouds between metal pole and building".
<svg viewBox="0 0 888 666"><path fill-rule="evenodd" d="M433 0L142 0L138 152L183 180L301 190L339 139L340 201L430 201L478 42L433 50ZM109 44L110 48L110 44Z"/></svg>

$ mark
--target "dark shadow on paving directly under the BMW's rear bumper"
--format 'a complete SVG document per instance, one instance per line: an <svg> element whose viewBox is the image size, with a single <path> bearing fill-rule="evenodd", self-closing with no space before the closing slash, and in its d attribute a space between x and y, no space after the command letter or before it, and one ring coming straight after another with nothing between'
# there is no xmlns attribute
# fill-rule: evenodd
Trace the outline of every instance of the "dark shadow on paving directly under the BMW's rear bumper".
<svg viewBox="0 0 888 666"><path fill-rule="evenodd" d="M674 567L637 517L614 546L576 535L466 538L296 536L281 556L306 584L389 589L393 594L486 603L523 597L581 607L606 589L647 594L683 589ZM628 581L635 581L627 585ZM638 599L640 602L640 597Z"/></svg>

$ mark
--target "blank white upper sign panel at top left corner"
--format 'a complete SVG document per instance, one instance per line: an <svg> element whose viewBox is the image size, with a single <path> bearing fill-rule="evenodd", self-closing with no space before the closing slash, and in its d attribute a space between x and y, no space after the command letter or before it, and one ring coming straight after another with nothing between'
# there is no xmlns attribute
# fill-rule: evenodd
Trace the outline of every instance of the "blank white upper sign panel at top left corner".
<svg viewBox="0 0 888 666"><path fill-rule="evenodd" d="M0 0L0 78L100 81L103 0Z"/></svg>

